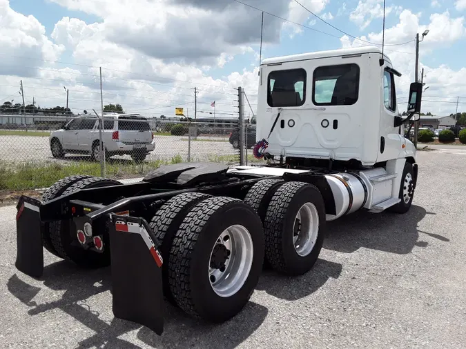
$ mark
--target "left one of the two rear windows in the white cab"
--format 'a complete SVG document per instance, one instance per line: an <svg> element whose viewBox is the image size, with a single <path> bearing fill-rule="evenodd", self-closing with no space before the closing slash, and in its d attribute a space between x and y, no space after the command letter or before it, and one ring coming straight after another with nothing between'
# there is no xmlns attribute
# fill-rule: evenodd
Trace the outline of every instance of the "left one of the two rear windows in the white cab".
<svg viewBox="0 0 466 349"><path fill-rule="evenodd" d="M269 74L267 103L271 107L299 107L306 100L306 70L275 70Z"/></svg>

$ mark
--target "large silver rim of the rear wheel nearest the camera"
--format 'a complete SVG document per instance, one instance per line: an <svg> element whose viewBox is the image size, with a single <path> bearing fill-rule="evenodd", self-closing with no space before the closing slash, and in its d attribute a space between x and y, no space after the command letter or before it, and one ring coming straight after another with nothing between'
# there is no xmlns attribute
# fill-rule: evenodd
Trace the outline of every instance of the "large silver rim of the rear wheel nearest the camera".
<svg viewBox="0 0 466 349"><path fill-rule="evenodd" d="M220 234L208 261L208 279L220 297L238 292L249 276L253 264L253 239L249 230L235 224Z"/></svg>

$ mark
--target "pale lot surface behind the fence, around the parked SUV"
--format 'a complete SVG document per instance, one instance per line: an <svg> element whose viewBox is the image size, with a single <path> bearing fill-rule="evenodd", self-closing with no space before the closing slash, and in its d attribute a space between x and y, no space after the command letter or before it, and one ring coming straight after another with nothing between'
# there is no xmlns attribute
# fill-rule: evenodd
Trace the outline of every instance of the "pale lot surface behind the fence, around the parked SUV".
<svg viewBox="0 0 466 349"><path fill-rule="evenodd" d="M191 141L191 159L193 161L209 161L213 156L228 156L239 154L228 141L228 137L219 137L224 141L209 141L207 137L198 137L198 141ZM211 137L212 139L212 137ZM155 136L155 150L146 158L151 160L170 160L176 155L181 155L184 160L188 157L188 137L177 136ZM66 155L66 159L79 160L89 159L84 155ZM120 157L131 159L129 156ZM43 162L46 160L68 162L57 160L52 157L48 137L28 136L0 136L0 161Z"/></svg>

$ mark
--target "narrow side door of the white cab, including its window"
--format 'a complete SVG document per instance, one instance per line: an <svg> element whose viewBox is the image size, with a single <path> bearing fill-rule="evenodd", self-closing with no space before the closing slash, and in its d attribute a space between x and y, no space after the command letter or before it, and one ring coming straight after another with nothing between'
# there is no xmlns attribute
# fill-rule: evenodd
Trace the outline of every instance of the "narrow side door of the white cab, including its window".
<svg viewBox="0 0 466 349"><path fill-rule="evenodd" d="M383 104L380 106L380 137L377 161L396 159L404 143L398 133L398 127L394 126L395 117L398 115L396 105L396 88L394 73L385 69L382 77Z"/></svg>

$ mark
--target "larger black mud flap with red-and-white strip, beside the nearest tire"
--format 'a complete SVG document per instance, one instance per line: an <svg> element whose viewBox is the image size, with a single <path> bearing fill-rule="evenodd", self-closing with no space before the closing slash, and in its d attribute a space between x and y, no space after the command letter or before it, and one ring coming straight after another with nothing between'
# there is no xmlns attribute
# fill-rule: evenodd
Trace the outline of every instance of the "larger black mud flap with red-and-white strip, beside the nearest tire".
<svg viewBox="0 0 466 349"><path fill-rule="evenodd" d="M162 256L144 219L111 215L113 315L164 331Z"/></svg>

